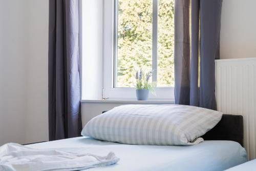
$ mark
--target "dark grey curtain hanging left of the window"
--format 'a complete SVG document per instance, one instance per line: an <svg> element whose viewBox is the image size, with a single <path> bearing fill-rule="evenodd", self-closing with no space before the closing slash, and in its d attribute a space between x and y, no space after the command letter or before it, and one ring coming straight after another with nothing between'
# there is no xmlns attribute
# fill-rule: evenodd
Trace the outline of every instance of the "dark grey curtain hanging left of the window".
<svg viewBox="0 0 256 171"><path fill-rule="evenodd" d="M49 140L80 135L78 1L49 0Z"/></svg>

